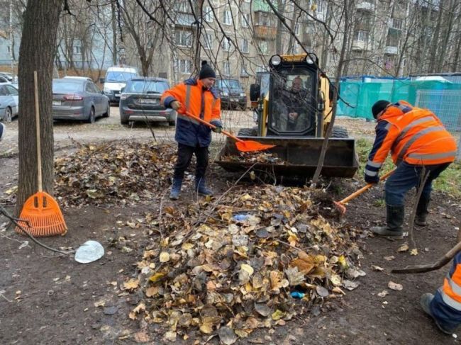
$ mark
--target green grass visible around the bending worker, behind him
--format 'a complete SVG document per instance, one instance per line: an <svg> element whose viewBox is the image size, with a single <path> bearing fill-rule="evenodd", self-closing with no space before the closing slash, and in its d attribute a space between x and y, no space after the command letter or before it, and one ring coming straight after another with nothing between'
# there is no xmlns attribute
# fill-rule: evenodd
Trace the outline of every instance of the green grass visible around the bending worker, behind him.
<svg viewBox="0 0 461 345"><path fill-rule="evenodd" d="M361 138L355 142L355 148L359 156L359 170L357 174L359 174L360 179L363 179L363 170L367 164L368 154L370 154L372 147L373 142L371 140ZM379 171L379 175L382 176L392 169L394 169L394 163L389 155L382 169ZM455 198L461 198L461 162L454 162L448 166L448 168L435 179L432 186L434 191L442 191Z"/></svg>

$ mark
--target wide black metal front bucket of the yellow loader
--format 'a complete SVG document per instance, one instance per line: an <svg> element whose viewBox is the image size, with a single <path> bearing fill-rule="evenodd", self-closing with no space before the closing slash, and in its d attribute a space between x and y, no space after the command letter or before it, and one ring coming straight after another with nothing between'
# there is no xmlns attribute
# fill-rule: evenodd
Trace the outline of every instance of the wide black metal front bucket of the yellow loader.
<svg viewBox="0 0 461 345"><path fill-rule="evenodd" d="M275 145L270 152L279 157L280 161L245 162L237 159L240 153L234 140L226 140L215 162L226 171L243 172L251 166L255 171L267 171L277 178L306 179L313 176L320 157L323 138L309 137L240 137L243 140L256 140L261 144ZM355 152L355 140L352 138L331 138L328 140L325 161L321 171L322 176L352 177L358 169L358 158Z"/></svg>

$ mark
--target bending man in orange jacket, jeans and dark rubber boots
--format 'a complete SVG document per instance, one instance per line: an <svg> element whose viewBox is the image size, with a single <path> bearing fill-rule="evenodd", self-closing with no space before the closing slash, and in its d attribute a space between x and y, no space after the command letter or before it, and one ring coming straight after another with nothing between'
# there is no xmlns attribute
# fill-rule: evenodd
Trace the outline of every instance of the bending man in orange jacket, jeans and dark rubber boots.
<svg viewBox="0 0 461 345"><path fill-rule="evenodd" d="M455 160L456 142L431 111L405 101L377 101L372 113L377 120L376 137L365 166L365 181L379 181L379 169L389 151L397 166L385 185L387 225L372 227L372 232L401 236L406 192L418 186L424 166L429 176L416 208L415 224L425 226L432 182Z"/></svg>

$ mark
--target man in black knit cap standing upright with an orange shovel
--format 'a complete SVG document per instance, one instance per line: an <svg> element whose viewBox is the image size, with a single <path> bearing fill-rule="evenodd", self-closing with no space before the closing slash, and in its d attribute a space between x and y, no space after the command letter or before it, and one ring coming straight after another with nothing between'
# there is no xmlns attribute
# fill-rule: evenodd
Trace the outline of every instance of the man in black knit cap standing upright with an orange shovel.
<svg viewBox="0 0 461 345"><path fill-rule="evenodd" d="M206 61L203 61L198 78L187 79L162 94L163 105L177 111L174 139L178 143L178 151L170 192L170 198L173 200L179 198L184 172L189 166L193 154L196 157L195 191L204 196L213 195L206 187L205 181L211 130L206 125L202 125L194 118L184 114L187 112L196 118L201 118L216 126L213 132L221 132L221 99L218 91L213 89L215 80L216 73L213 68Z"/></svg>

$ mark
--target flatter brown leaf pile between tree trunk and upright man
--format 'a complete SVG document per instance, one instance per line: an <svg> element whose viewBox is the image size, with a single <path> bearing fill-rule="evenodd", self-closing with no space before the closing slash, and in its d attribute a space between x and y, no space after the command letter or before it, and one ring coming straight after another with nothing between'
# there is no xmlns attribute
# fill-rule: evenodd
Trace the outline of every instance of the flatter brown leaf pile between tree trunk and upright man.
<svg viewBox="0 0 461 345"><path fill-rule="evenodd" d="M113 142L84 145L55 162L60 204L110 204L151 200L170 185L174 145Z"/></svg>

